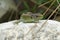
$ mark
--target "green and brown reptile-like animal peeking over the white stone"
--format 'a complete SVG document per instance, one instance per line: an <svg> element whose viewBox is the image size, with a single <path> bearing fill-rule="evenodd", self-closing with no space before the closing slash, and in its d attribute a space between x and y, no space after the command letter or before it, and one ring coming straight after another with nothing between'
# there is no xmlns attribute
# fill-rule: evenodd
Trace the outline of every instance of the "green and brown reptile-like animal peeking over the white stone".
<svg viewBox="0 0 60 40"><path fill-rule="evenodd" d="M38 22L43 18L43 15L40 13L23 13L21 15L20 21L25 22L25 23L33 23L33 22Z"/></svg>

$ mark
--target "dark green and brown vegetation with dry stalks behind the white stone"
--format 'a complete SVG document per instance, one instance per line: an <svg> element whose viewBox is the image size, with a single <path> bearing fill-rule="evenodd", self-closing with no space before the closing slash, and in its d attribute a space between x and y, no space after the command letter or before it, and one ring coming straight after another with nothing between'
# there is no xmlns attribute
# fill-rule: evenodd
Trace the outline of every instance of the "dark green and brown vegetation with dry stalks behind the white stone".
<svg viewBox="0 0 60 40"><path fill-rule="evenodd" d="M10 12L8 11L7 13L11 15L2 19L4 22L5 20L20 19L23 13L26 14L28 12L32 14L40 13L43 15L41 19L58 19L60 21L60 19L57 18L58 16L60 17L60 0L14 0L14 2L17 6L17 10L9 10Z"/></svg>

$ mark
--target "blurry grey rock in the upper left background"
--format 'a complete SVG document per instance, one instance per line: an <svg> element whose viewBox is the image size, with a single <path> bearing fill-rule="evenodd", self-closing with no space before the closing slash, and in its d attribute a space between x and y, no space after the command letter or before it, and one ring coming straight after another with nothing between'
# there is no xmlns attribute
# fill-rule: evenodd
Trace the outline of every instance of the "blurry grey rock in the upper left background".
<svg viewBox="0 0 60 40"><path fill-rule="evenodd" d="M10 9L16 9L13 0L0 0L0 18Z"/></svg>

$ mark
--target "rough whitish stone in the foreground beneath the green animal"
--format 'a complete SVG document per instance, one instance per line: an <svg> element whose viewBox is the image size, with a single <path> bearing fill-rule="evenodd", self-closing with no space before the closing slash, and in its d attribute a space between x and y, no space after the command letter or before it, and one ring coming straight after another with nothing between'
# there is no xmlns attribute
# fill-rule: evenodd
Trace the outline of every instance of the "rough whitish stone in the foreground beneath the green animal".
<svg viewBox="0 0 60 40"><path fill-rule="evenodd" d="M40 20L39 23L18 24L14 23L16 21L0 24L0 40L60 40L58 21L48 20L40 31L46 20Z"/></svg>

